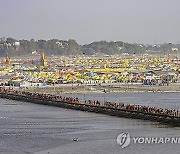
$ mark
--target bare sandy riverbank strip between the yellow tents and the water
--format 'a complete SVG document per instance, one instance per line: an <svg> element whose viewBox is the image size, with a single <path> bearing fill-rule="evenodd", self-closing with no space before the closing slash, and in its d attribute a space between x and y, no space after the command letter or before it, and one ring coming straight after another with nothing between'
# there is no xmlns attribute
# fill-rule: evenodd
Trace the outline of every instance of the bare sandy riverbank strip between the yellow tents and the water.
<svg viewBox="0 0 180 154"><path fill-rule="evenodd" d="M180 92L180 83L170 84L169 86L149 86L142 84L97 84L97 85L79 85L79 84L58 84L46 87L30 87L22 90L30 92L43 93L106 93L106 92Z"/></svg>

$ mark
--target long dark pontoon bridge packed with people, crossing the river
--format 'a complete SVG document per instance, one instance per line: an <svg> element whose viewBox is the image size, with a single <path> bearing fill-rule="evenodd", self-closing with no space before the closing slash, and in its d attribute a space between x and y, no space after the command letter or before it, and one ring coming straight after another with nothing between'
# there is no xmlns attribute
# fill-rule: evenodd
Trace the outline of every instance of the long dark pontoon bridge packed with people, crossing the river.
<svg viewBox="0 0 180 154"><path fill-rule="evenodd" d="M52 94L41 94L16 91L0 87L0 98L35 104L58 106L63 108L108 114L119 117L157 121L180 126L180 112L175 109L162 109L136 104L100 102L98 100L79 100L76 97L64 97Z"/></svg>

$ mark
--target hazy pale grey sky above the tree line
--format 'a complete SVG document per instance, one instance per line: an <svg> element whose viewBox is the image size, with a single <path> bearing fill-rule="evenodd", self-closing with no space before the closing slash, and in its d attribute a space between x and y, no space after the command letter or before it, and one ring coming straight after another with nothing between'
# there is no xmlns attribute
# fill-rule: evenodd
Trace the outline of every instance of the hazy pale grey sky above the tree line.
<svg viewBox="0 0 180 154"><path fill-rule="evenodd" d="M0 37L179 43L180 0L0 0Z"/></svg>

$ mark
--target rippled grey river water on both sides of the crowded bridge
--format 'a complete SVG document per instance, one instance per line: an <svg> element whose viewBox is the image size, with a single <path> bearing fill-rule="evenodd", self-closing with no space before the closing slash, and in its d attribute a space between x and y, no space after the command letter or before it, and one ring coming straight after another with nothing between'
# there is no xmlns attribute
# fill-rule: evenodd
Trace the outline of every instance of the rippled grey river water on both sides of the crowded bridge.
<svg viewBox="0 0 180 154"><path fill-rule="evenodd" d="M179 93L73 94L101 101L130 102L180 109ZM129 132L131 143L116 142ZM135 144L133 137L180 137L180 128L138 119L82 112L0 99L0 153L175 154L180 144ZM78 138L77 141L73 141Z"/></svg>

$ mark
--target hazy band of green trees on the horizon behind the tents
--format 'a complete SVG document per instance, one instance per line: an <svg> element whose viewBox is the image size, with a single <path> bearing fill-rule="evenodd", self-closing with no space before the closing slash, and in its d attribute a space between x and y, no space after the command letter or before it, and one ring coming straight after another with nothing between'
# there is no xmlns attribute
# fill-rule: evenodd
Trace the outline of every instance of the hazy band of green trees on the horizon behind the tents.
<svg viewBox="0 0 180 154"><path fill-rule="evenodd" d="M122 41L99 41L91 44L79 45L75 40L68 41L51 39L51 40L16 40L14 38L0 38L0 56L6 53L10 55L32 55L44 51L46 55L77 55L94 53L103 54L139 54L146 51L158 51L162 53L172 52L172 49L180 49L180 45L165 43L162 45L143 45L130 44ZM175 51L177 52L177 51Z"/></svg>

